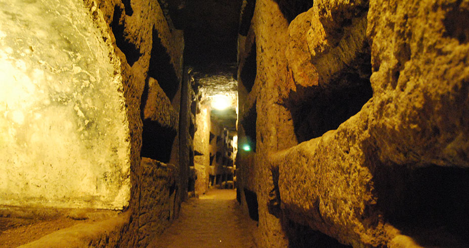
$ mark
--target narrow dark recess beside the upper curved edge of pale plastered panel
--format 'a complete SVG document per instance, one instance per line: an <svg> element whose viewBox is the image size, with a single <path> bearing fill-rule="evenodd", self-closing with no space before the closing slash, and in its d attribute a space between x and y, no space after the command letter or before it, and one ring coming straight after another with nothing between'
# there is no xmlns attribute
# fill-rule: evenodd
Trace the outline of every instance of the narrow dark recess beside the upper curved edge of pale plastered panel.
<svg viewBox="0 0 469 248"><path fill-rule="evenodd" d="M114 6L114 16L111 22L111 29L116 39L116 46L125 54L127 63L129 63L130 66L133 66L142 54L140 53L140 49L126 38L127 33L124 31L124 18L122 17L122 10L118 5Z"/></svg>

